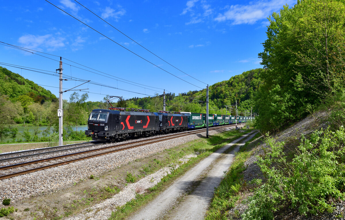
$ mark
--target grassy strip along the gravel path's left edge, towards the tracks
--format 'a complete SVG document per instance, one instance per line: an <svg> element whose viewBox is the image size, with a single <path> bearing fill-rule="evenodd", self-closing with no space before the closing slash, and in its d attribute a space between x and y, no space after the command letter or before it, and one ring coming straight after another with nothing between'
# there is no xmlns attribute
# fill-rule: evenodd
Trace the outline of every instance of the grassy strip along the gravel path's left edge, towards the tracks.
<svg viewBox="0 0 345 220"><path fill-rule="evenodd" d="M162 161L162 164L159 168L156 167L155 169L148 170L148 173L156 172L161 167L164 167L171 163L176 163L178 159L184 157L185 155L196 152L198 155L197 157L192 157L187 163L180 165L179 168L173 170L171 174L166 175L156 186L150 188L144 194L137 194L135 199L131 200L121 207L117 207L117 210L112 212L110 219L125 219L130 213L137 211L142 207L142 205L145 205L149 201L154 199L156 195L158 195L169 184L171 184L172 180L175 180L179 176L183 175L186 171L193 168L195 164L200 162L205 157L209 156L220 147L223 147L225 144L236 140L243 134L250 131L252 130L248 130L242 133L240 131L224 132L221 134L213 135L209 139L200 138L198 140L191 141L187 144L184 144L184 147L182 148L181 146L178 146L167 150L169 151L169 154L167 156L169 159L164 160L164 162ZM150 168L150 166L145 166L145 168Z"/></svg>

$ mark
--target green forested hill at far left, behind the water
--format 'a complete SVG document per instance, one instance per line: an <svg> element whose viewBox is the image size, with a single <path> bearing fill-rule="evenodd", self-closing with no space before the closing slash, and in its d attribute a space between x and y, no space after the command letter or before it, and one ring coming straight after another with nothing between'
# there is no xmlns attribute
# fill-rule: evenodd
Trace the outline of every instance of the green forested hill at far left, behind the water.
<svg viewBox="0 0 345 220"><path fill-rule="evenodd" d="M19 101L18 98L23 95L31 97L33 102L40 104L58 100L49 90L1 66L0 94L8 96L12 102Z"/></svg>

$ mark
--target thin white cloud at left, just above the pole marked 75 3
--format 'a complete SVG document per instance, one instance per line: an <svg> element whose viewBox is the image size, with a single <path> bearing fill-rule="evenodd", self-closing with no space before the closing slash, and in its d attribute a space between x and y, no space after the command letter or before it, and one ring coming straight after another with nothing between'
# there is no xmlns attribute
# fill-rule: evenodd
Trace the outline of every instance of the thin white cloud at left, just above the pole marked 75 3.
<svg viewBox="0 0 345 220"><path fill-rule="evenodd" d="M65 47L64 42L65 38L62 37L53 37L53 35L43 35L43 36L35 36L35 35L24 35L18 39L18 42L28 47L30 49L42 49L42 47L46 48L47 50L55 50L60 47Z"/></svg>

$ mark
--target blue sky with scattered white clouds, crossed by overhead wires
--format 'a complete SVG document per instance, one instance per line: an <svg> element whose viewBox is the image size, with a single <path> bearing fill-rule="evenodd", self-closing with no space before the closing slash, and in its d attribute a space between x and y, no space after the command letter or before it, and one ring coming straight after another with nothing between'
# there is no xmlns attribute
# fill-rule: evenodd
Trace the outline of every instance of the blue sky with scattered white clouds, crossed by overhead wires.
<svg viewBox="0 0 345 220"><path fill-rule="evenodd" d="M279 12L284 4L291 7L297 2L78 1L183 73L121 34L76 1L49 1L117 44L45 0L2 1L0 41L61 56L63 76L106 85L87 83L77 87L88 88L88 101L100 101L105 94L131 98L162 94L162 89L175 94L200 90L206 87L204 83L212 85L244 71L261 68L258 53L263 51L267 17L273 12ZM59 68L58 57L35 53L51 59L0 45L0 62L53 72ZM24 78L45 85L43 87L58 97L58 88L54 88L59 85L58 74L50 73L55 75L52 76L36 73L1 63L0 66L21 74ZM145 86L121 82L123 79ZM70 89L81 83L83 82L75 80L63 81L63 88ZM69 99L71 93L63 93L63 98Z"/></svg>

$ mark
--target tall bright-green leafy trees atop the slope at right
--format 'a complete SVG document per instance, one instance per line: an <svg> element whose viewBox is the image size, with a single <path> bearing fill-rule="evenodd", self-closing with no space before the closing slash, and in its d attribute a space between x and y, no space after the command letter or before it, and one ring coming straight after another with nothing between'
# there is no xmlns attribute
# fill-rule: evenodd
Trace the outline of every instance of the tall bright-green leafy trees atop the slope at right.
<svg viewBox="0 0 345 220"><path fill-rule="evenodd" d="M344 84L344 2L303 0L269 18L264 52L269 70L256 94L257 126L278 130L301 119ZM337 83L336 83L337 82Z"/></svg>

